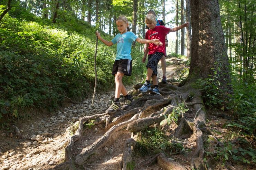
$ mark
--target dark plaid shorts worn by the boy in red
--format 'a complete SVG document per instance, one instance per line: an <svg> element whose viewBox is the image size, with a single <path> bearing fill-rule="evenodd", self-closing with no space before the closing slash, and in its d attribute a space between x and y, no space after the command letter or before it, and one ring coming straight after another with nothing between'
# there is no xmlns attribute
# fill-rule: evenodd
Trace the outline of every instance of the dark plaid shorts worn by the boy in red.
<svg viewBox="0 0 256 170"><path fill-rule="evenodd" d="M157 76L157 64L160 59L163 57L164 53L156 52L154 54L150 54L148 56L148 64L146 65L147 68L151 68L153 70L152 76Z"/></svg>

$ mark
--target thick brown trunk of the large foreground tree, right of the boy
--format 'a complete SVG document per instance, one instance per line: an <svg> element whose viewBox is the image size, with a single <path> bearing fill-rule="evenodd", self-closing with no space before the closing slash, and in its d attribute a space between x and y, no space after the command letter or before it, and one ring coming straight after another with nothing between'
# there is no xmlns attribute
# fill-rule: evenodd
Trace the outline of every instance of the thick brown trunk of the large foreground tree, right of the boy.
<svg viewBox="0 0 256 170"><path fill-rule="evenodd" d="M228 56L220 22L218 0L191 0L192 56L188 81L222 75L218 81L221 89L232 92ZM215 63L218 63L217 65Z"/></svg>

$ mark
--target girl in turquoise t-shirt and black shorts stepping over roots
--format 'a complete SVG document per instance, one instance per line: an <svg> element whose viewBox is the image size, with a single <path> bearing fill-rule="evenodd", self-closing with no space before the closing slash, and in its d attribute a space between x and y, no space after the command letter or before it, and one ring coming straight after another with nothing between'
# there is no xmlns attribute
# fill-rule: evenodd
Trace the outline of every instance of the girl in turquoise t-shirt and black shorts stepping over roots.
<svg viewBox="0 0 256 170"><path fill-rule="evenodd" d="M125 97L125 104L123 109L127 109L132 103L132 97L127 94L126 88L122 83L124 75L131 76L132 73L132 57L131 47L132 42L137 41L141 44L154 43L155 45L163 45L159 39L145 40L140 39L133 32L130 32L129 22L125 16L120 16L116 20L117 29L120 32L111 41L107 41L101 37L101 34L96 31L98 39L101 40L107 46L117 44L116 58L112 68L112 75L115 76L115 98L110 107L106 110L106 113L114 113L120 108L119 97L122 93Z"/></svg>

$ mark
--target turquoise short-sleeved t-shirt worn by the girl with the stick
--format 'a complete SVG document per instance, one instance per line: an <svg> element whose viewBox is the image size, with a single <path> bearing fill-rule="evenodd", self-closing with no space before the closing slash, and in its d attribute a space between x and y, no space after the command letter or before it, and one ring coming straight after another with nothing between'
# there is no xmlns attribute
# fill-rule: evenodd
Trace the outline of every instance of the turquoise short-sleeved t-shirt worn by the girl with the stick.
<svg viewBox="0 0 256 170"><path fill-rule="evenodd" d="M132 60L131 51L132 51L132 42L135 41L138 38L137 35L135 35L131 31L127 31L123 34L117 34L115 38L111 40L113 44L117 43L116 46L116 58L115 60L121 60L121 59L129 59Z"/></svg>

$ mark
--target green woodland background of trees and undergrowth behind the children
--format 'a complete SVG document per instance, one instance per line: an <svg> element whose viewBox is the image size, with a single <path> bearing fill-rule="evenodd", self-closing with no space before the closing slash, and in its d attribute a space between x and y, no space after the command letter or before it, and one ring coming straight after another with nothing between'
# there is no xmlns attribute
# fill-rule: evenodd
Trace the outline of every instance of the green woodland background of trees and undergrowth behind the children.
<svg viewBox="0 0 256 170"><path fill-rule="evenodd" d="M190 22L189 1L177 0L171 9L167 1L153 0L1 0L0 2L0 121L8 122L30 116L33 110L58 108L67 99L82 100L92 94L94 87L95 31L111 40L118 33L115 20L126 15L130 28L141 38L145 35L144 17L155 10L167 26ZM210 109L229 111L232 119L225 126L244 137L250 145L247 157L232 157L250 163L255 157L255 41L256 13L253 0L220 0L221 25L225 35L226 53L231 72L233 93L223 95L215 71L208 78L198 79L204 102ZM110 75L115 58L115 46L99 43L97 53L97 90L107 91L114 86ZM143 45L132 50L133 76L125 84L143 82L145 64L141 63ZM186 50L186 51L185 51ZM176 32L176 41L169 41L168 54L187 60L190 65L191 28ZM184 56L184 54L187 54ZM186 79L184 69L177 81ZM233 134L234 135L234 134ZM228 159L227 158L227 159ZM226 156L224 157L224 160Z"/></svg>

